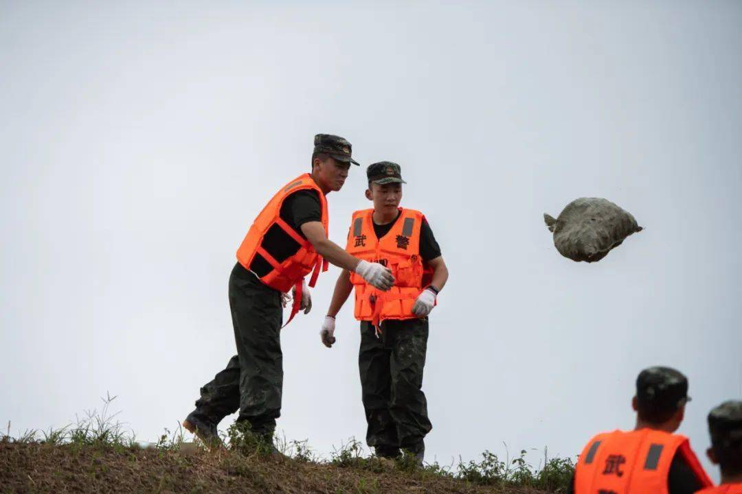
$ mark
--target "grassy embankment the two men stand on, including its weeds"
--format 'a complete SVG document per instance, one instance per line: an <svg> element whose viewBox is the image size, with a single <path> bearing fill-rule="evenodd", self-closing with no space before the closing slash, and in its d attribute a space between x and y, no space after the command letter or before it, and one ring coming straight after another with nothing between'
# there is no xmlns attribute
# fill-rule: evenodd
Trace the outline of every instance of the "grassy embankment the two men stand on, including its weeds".
<svg viewBox="0 0 742 494"><path fill-rule="evenodd" d="M184 442L181 430L142 448L108 415L110 403L59 430L0 433L0 493L562 493L574 468L562 458L531 467L525 451L418 468L407 456L367 455L355 440L330 458L306 441L278 440L283 454L272 454L234 426L226 447L211 451Z"/></svg>

